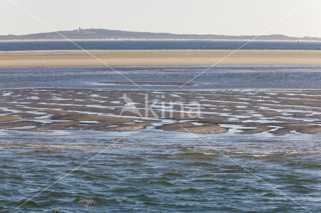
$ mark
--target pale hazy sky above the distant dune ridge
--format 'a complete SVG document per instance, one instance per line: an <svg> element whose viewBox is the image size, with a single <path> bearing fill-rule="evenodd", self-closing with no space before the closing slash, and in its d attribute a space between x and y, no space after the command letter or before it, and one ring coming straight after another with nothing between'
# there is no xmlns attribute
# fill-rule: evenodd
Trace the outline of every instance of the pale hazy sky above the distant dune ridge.
<svg viewBox="0 0 321 213"><path fill-rule="evenodd" d="M12 0L56 30L256 35L308 0ZM264 34L321 37L321 0L313 0ZM0 0L0 34L52 31Z"/></svg>

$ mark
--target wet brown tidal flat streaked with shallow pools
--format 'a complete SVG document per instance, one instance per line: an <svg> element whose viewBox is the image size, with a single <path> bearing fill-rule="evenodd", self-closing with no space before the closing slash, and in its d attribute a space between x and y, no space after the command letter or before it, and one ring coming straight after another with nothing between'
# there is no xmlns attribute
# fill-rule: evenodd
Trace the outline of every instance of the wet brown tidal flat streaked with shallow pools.
<svg viewBox="0 0 321 213"><path fill-rule="evenodd" d="M127 93L143 116L121 111L125 106L123 93ZM1 89L0 129L131 131L148 128L208 134L321 134L321 92L316 90L148 92L148 105L154 103L152 108L156 114L149 111L148 116L144 98L145 91L139 90ZM169 107L175 101L181 101L184 108ZM200 116L188 116L190 101L200 103Z"/></svg>

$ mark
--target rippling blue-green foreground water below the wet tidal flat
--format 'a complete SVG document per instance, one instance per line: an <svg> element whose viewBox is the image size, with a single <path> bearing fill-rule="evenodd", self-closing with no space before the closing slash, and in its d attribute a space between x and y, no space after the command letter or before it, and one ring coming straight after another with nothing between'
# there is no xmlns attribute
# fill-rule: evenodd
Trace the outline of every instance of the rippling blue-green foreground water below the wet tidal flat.
<svg viewBox="0 0 321 213"><path fill-rule="evenodd" d="M198 134L211 147L189 133L143 130L109 147L124 133L3 133L5 211L104 149L20 210L302 210L232 160L305 208L321 210L321 143L315 136Z"/></svg>

